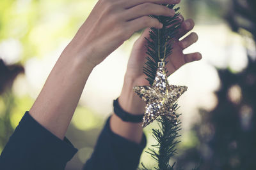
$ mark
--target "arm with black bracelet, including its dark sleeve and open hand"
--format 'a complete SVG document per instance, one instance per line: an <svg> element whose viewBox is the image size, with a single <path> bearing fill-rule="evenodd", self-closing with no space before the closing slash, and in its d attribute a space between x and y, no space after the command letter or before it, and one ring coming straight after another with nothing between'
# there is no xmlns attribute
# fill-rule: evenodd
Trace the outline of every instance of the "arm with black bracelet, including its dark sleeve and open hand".
<svg viewBox="0 0 256 170"><path fill-rule="evenodd" d="M182 18L182 16L180 17ZM182 18L178 38L184 36L194 27L193 20L183 21ZM143 74L143 64L146 57L145 45L147 43L144 37L148 37L148 29L134 43L124 78L124 86L118 98L122 109L134 115L143 114L145 109L145 103L133 92L134 85L148 85ZM169 56L171 62L167 65L168 69L171 70L170 73L173 73L187 62L201 59L200 53L186 55L182 53L184 48L192 45L196 40L197 35L192 33L173 44L175 48L173 49L172 59ZM146 139L143 135L141 123L123 122L113 114L101 132L93 155L86 162L84 169L136 169L145 145Z"/></svg>

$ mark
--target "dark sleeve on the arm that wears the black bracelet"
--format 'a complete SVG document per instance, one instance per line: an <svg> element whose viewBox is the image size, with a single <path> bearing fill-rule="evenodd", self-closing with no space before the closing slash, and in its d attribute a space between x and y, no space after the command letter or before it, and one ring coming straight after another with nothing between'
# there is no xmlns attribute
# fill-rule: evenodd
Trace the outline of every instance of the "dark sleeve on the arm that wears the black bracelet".
<svg viewBox="0 0 256 170"><path fill-rule="evenodd" d="M109 118L100 133L92 157L84 165L84 170L137 169L140 155L147 143L145 134L140 144L122 138L111 131Z"/></svg>

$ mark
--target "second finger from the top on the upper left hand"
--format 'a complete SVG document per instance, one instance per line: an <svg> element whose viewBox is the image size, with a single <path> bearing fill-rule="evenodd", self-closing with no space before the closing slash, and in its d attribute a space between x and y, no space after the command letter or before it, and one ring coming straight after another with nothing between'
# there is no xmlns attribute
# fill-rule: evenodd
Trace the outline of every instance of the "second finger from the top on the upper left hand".
<svg viewBox="0 0 256 170"><path fill-rule="evenodd" d="M123 15L126 20L132 20L134 18L147 15L163 15L166 17L173 17L175 15L175 11L159 4L143 3L134 6L129 10L125 10Z"/></svg>

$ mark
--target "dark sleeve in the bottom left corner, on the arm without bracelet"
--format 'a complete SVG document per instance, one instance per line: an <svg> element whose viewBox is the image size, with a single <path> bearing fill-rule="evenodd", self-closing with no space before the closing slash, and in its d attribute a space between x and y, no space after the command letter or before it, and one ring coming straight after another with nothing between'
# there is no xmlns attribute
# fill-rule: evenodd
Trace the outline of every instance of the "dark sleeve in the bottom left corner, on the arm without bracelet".
<svg viewBox="0 0 256 170"><path fill-rule="evenodd" d="M0 169L64 169L76 152L67 138L57 138L26 111L1 153Z"/></svg>

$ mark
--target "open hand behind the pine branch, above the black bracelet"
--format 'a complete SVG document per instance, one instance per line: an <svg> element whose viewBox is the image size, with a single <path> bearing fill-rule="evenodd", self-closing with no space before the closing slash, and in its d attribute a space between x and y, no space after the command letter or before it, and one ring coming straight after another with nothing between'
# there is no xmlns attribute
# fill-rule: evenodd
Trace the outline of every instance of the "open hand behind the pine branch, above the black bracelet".
<svg viewBox="0 0 256 170"><path fill-rule="evenodd" d="M179 39L191 31L195 25L191 19L184 21L181 15L180 18L182 19L182 24L177 39L175 39L175 42L173 43L173 53L166 58L166 60L169 61L168 64L166 64L166 68L169 71L168 74L175 72L179 67L188 62L193 62L202 58L200 53L183 53L184 49L197 41L198 36L195 32L192 32L179 41ZM125 111L133 114L144 113L145 109L145 102L133 92L132 88L135 85L149 85L148 81L145 79L147 76L143 74L143 66L145 66L145 59L147 56L147 48L145 48L147 41L145 37L149 38L149 30L150 29L145 29L140 38L134 43L127 65L127 71L125 73L124 87L118 99L120 106Z"/></svg>

